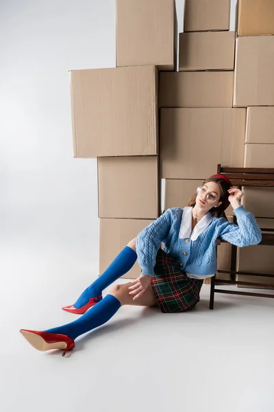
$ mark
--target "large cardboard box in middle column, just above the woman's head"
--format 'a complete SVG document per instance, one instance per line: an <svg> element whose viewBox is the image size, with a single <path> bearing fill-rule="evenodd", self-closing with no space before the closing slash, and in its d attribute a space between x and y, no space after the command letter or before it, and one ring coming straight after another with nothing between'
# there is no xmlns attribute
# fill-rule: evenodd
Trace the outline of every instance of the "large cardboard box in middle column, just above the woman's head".
<svg viewBox="0 0 274 412"><path fill-rule="evenodd" d="M162 179L204 179L219 163L243 166L245 109L164 108L160 117Z"/></svg>

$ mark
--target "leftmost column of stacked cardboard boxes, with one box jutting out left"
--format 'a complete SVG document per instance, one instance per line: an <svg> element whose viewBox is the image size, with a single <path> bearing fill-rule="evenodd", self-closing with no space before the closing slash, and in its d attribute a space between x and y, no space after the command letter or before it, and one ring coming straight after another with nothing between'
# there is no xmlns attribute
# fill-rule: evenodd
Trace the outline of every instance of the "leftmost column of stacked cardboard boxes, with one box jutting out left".
<svg viewBox="0 0 274 412"><path fill-rule="evenodd" d="M74 156L98 165L99 273L160 216L158 76L176 43L175 0L116 0L116 67L71 71Z"/></svg>

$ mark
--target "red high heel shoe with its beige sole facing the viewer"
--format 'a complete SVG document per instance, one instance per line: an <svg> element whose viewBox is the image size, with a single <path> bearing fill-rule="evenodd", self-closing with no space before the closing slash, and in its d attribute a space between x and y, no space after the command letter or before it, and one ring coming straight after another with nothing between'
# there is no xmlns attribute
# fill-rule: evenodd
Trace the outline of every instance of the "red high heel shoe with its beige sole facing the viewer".
<svg viewBox="0 0 274 412"><path fill-rule="evenodd" d="M74 339L63 334L27 329L21 329L20 332L35 349L43 352L51 349L64 349L62 356L65 356L67 350L75 347Z"/></svg>

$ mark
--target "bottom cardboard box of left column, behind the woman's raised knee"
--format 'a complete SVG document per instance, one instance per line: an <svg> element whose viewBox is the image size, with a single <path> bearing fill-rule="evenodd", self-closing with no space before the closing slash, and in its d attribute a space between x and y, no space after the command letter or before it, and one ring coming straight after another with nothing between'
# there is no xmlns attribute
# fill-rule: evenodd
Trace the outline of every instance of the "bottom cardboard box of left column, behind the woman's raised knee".
<svg viewBox="0 0 274 412"><path fill-rule="evenodd" d="M130 240L145 229L153 220L145 219L100 219L100 268L102 274ZM141 269L138 262L122 277L136 279Z"/></svg>

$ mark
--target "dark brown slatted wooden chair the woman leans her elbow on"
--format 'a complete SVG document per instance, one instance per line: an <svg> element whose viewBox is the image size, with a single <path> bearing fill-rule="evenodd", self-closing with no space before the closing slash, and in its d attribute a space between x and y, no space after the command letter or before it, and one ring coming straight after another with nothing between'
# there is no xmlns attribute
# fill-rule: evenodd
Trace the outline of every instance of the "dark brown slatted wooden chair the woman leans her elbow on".
<svg viewBox="0 0 274 412"><path fill-rule="evenodd" d="M274 168L222 168L218 165L218 174L225 174L231 181L232 185L242 187L242 186L253 186L253 187L274 187ZM236 223L236 216L234 216L234 223ZM262 231L262 241L258 244L258 247L263 244L268 244L274 246L274 229L263 229ZM217 240L218 244L225 242L221 239ZM230 280L218 280L216 276L211 278L210 287L210 309L214 308L214 293L228 293L231 295L248 295L256 297L272 297L274 298L274 293L253 293L253 292L243 292L238 290L224 290L216 289L216 284L232 284L232 285L242 285L242 286L267 286L267 284L260 284L256 282L242 282L236 280L236 275L250 275L250 276L260 276L260 277L274 277L274 273L254 273L245 271L236 271L236 257L237 257L237 247L232 244L232 256L230 262L229 271L218 271L218 273L230 273ZM274 253L274 249L273 249Z"/></svg>

